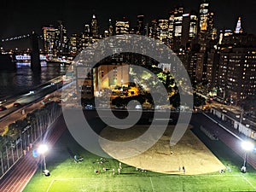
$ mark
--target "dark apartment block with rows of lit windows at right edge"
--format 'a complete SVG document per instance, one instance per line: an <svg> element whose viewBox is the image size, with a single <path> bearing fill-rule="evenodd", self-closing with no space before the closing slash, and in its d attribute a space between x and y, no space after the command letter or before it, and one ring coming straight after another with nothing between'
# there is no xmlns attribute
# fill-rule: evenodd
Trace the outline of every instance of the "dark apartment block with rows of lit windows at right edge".
<svg viewBox="0 0 256 192"><path fill-rule="evenodd" d="M256 95L256 48L224 49L220 53L218 87L237 102Z"/></svg>

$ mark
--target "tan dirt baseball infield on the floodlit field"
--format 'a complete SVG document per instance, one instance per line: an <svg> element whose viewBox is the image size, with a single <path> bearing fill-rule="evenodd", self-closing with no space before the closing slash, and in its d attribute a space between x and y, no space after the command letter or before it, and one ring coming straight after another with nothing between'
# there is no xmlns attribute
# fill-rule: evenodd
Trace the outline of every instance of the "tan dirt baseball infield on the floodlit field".
<svg viewBox="0 0 256 192"><path fill-rule="evenodd" d="M129 141L142 135L147 129L147 125L135 125L126 130L117 130L108 126L102 131L101 136L116 142ZM127 165L153 172L184 174L182 168L184 166L186 175L196 175L218 172L225 168L215 155L201 143L201 140L195 137L190 129L186 131L177 145L171 148L169 141L173 129L174 126L168 126L165 134L152 148L149 148L143 154L127 159L117 158L119 157L119 150L121 150L118 144L108 144L101 139L99 143L102 149L114 159L119 159L119 161ZM131 150L135 150L135 148L131 148Z"/></svg>

